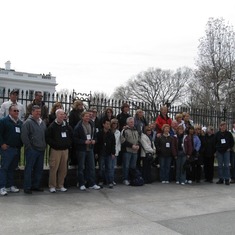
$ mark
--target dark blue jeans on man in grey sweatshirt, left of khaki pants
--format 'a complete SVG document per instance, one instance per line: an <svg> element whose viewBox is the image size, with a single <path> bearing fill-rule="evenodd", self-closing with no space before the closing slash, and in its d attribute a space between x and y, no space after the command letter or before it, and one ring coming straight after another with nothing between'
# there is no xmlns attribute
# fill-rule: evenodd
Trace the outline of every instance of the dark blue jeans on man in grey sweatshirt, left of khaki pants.
<svg viewBox="0 0 235 235"><path fill-rule="evenodd" d="M24 170L24 189L39 188L43 174L44 151L27 149Z"/></svg>

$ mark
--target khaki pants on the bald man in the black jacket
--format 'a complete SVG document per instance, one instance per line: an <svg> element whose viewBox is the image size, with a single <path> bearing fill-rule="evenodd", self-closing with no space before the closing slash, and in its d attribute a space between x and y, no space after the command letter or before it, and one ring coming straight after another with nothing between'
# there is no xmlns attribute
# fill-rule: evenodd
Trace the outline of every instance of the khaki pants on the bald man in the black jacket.
<svg viewBox="0 0 235 235"><path fill-rule="evenodd" d="M55 150L51 148L49 166L49 187L61 188L67 175L68 149Z"/></svg>

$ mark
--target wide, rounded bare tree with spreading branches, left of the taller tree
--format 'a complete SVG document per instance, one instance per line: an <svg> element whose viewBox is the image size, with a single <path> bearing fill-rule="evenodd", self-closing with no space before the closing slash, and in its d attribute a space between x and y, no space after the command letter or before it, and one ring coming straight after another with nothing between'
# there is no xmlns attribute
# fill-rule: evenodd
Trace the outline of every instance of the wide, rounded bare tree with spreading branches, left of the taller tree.
<svg viewBox="0 0 235 235"><path fill-rule="evenodd" d="M187 94L185 89L192 70L179 68L176 72L150 68L130 79L126 86L116 88L115 99L141 101L157 111L159 104L176 104Z"/></svg>

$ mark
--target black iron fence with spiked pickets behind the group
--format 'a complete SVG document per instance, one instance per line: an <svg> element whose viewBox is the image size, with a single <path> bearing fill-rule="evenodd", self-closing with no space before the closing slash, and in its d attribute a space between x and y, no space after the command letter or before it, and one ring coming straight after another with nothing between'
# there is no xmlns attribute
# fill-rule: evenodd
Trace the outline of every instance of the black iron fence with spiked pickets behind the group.
<svg viewBox="0 0 235 235"><path fill-rule="evenodd" d="M10 89L3 89L0 92L0 104L9 99ZM20 91L18 101L25 106L25 109L29 103L32 102L34 95L29 93L27 90ZM124 101L124 100L113 100L105 99L99 97L92 97L91 94L77 93L73 91L71 94L44 94L44 102L48 106L49 110L55 102L61 102L65 112L69 115L72 109L72 104L75 100L80 99L84 103L85 110L96 108L98 111L98 116L102 116L104 110L107 107L113 109L114 115L120 113L121 106L123 103L128 103L130 106L130 114L135 115L137 109L142 109L145 113L146 120L151 123L156 120L157 115L160 113L160 107L162 104L148 104L140 101ZM200 124L202 126L213 126L218 129L219 123L225 120L228 124L228 128L231 128L233 121L235 120L235 113L226 110L222 111L199 109L196 107L183 107L183 106L171 106L167 103L169 107L169 116L174 119L177 113L187 112L190 114L191 119L195 124ZM46 151L45 164L48 163L48 151ZM22 163L23 164L23 163Z"/></svg>

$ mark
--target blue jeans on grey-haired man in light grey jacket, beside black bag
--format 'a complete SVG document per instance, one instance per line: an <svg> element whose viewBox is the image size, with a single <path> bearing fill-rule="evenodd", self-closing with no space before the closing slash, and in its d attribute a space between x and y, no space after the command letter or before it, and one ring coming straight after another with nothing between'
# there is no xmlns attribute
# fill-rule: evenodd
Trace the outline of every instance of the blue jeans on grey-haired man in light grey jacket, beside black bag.
<svg viewBox="0 0 235 235"><path fill-rule="evenodd" d="M123 153L123 180L129 179L129 169L135 169L136 168L136 161L137 161L137 153L129 153L124 152Z"/></svg>

